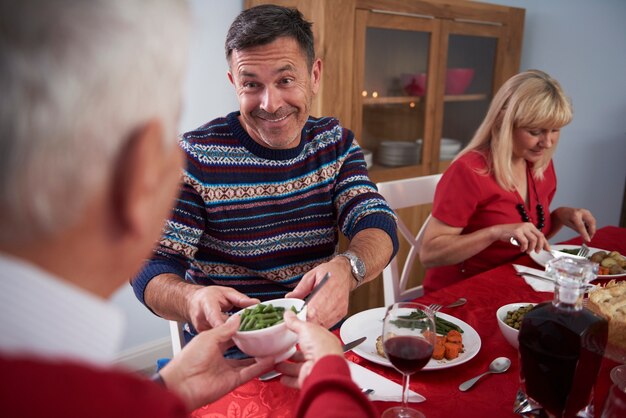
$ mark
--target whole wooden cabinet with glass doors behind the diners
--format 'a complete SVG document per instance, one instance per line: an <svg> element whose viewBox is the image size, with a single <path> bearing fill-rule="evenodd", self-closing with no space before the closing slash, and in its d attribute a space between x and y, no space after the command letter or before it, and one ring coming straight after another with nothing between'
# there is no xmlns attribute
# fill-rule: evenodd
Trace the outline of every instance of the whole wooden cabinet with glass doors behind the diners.
<svg viewBox="0 0 626 418"><path fill-rule="evenodd" d="M323 70L312 113L337 117L355 133L373 153L375 182L445 170L493 93L519 70L523 9L462 0L247 0L245 6L269 2L297 7L313 22ZM468 75L466 86L455 84ZM429 210L400 216L417 231ZM423 269L416 270L419 281ZM380 286L358 289L351 311L382 306Z"/></svg>

